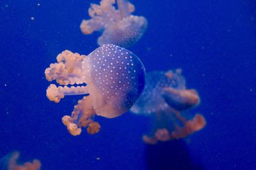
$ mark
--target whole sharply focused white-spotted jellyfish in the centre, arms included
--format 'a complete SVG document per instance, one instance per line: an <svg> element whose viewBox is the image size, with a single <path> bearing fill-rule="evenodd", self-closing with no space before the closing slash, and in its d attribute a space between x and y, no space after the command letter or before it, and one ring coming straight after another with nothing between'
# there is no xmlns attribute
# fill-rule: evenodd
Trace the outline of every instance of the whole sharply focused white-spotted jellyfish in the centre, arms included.
<svg viewBox="0 0 256 170"><path fill-rule="evenodd" d="M64 87L49 85L48 99L59 103L65 96L84 95L71 116L62 118L73 136L81 134L81 127L87 127L89 134L99 132L99 123L93 122L95 114L106 118L122 115L145 87L141 60L120 46L102 45L87 56L65 50L57 56L57 61L45 69L45 77Z"/></svg>

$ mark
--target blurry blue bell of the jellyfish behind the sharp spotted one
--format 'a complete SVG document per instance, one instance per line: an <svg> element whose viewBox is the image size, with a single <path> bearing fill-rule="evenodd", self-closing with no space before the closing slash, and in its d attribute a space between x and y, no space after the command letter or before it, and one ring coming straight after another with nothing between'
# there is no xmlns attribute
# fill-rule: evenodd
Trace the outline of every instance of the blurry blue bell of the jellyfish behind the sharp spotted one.
<svg viewBox="0 0 256 170"><path fill-rule="evenodd" d="M180 69L147 73L145 89L130 111L136 114L150 115L168 109L168 104L161 96L163 89L168 87L179 90L186 89L186 82Z"/></svg>

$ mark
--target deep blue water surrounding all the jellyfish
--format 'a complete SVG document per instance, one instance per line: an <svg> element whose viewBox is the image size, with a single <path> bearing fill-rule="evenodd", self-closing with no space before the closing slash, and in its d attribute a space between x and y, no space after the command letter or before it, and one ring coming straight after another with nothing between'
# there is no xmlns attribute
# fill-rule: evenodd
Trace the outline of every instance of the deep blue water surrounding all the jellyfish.
<svg viewBox="0 0 256 170"><path fill-rule="evenodd" d="M156 146L141 140L149 118L131 113L96 117L99 134L70 136L61 117L81 96L45 97L44 69L58 53L97 47L99 34L84 36L79 24L98 2L0 1L0 157L19 150L42 169L256 169L255 1L132 1L148 30L129 50L147 71L182 68L202 101L191 113L207 120L188 139Z"/></svg>

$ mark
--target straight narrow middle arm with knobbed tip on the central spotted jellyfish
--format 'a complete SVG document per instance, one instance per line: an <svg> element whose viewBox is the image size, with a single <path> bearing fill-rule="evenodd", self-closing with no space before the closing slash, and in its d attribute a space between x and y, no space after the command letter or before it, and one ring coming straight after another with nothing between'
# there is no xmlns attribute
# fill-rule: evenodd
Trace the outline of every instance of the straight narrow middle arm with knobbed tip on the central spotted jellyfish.
<svg viewBox="0 0 256 170"><path fill-rule="evenodd" d="M56 85L51 84L46 90L46 96L48 97L48 99L50 101L54 101L55 103L59 103L60 100L63 99L65 96L81 94L88 94L86 86L57 87Z"/></svg>

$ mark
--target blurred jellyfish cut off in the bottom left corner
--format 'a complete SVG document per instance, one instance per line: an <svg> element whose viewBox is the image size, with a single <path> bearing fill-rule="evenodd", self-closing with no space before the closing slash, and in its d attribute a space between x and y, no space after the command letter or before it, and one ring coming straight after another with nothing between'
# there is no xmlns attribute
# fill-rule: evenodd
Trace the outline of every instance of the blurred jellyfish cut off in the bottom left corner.
<svg viewBox="0 0 256 170"><path fill-rule="evenodd" d="M0 159L1 170L39 170L41 167L40 160L34 159L32 162L18 164L19 152L8 153Z"/></svg>

